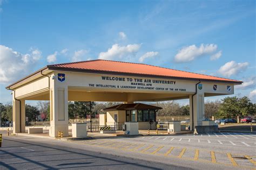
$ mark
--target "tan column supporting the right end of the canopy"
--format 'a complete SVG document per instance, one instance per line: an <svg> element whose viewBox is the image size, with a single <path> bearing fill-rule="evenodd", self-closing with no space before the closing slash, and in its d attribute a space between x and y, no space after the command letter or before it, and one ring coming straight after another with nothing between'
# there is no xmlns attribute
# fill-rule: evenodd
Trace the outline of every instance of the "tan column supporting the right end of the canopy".
<svg viewBox="0 0 256 170"><path fill-rule="evenodd" d="M193 96L193 118L192 118L192 95L190 95L190 130L192 130L192 121L194 121L193 126L202 126L202 121L205 117L204 108L204 91L198 90L197 94Z"/></svg>

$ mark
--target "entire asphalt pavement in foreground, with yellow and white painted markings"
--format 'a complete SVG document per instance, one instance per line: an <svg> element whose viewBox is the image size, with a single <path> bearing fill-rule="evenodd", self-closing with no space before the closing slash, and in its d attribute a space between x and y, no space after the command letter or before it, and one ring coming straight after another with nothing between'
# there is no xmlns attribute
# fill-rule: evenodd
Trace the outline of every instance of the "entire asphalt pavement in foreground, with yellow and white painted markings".
<svg viewBox="0 0 256 170"><path fill-rule="evenodd" d="M5 137L0 151L0 164L14 168L256 169L256 135L247 133L69 142L14 136Z"/></svg>

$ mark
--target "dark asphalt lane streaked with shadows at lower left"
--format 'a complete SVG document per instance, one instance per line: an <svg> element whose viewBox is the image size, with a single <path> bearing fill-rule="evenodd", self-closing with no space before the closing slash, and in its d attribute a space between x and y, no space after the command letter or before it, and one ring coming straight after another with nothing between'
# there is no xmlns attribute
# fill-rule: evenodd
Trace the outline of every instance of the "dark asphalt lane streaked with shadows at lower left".
<svg viewBox="0 0 256 170"><path fill-rule="evenodd" d="M59 140L4 137L0 169L190 169L73 148Z"/></svg>

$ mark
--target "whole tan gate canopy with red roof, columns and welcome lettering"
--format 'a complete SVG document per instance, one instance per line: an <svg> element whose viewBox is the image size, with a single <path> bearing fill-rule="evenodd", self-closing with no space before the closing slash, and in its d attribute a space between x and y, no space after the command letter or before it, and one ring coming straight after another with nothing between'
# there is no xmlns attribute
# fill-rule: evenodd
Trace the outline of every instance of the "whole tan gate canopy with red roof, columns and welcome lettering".
<svg viewBox="0 0 256 170"><path fill-rule="evenodd" d="M191 130L202 125L204 98L234 94L242 81L158 66L90 60L47 65L6 87L13 92L14 133L25 132L25 100L50 100L50 136L68 135L68 101L190 99Z"/></svg>

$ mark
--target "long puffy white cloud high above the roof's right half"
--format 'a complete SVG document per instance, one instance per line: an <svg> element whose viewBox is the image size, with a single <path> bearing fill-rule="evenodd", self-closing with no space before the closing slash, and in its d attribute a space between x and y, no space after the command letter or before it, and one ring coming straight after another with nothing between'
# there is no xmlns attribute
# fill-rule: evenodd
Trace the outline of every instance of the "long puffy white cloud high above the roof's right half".
<svg viewBox="0 0 256 170"><path fill-rule="evenodd" d="M197 57L211 55L217 50L217 47L216 44L201 44L199 47L196 45L186 46L179 50L174 61L178 63L191 62Z"/></svg>

